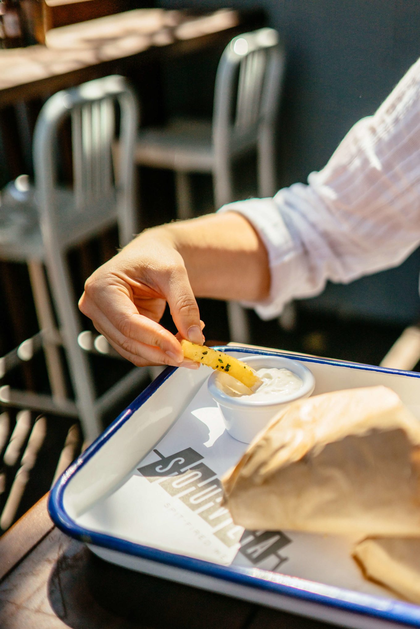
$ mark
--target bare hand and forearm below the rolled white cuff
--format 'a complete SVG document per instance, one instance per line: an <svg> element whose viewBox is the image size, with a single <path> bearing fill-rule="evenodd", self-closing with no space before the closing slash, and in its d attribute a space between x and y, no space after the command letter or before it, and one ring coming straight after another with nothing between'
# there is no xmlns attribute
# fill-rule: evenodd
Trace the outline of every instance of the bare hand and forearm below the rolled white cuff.
<svg viewBox="0 0 420 629"><path fill-rule="evenodd" d="M263 243L229 212L145 230L87 279L79 308L133 364L193 368L179 340L203 343L195 296L259 301L269 291ZM166 304L176 337L159 325Z"/></svg>

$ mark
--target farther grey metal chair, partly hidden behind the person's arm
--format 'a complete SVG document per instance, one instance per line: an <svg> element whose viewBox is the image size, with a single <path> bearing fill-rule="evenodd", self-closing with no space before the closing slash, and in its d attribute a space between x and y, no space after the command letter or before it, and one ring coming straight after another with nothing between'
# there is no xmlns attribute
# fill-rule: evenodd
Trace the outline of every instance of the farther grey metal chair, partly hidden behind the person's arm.
<svg viewBox="0 0 420 629"><path fill-rule="evenodd" d="M191 172L213 175L216 208L235 200L234 163L256 151L258 196L276 192L275 127L285 55L278 33L261 28L235 37L220 58L212 121L173 120L140 129L139 165L174 170L178 218L193 216ZM245 311L228 304L230 337L249 342Z"/></svg>

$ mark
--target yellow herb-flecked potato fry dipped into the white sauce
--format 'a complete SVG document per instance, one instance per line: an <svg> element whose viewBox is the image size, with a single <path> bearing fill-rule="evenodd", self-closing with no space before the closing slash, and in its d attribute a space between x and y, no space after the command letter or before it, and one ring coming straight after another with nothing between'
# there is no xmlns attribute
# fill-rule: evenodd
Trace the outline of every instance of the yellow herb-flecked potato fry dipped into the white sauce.
<svg viewBox="0 0 420 629"><path fill-rule="evenodd" d="M219 371L229 373L239 382L242 382L249 389L261 384L262 380L257 376L249 365L246 365L241 360L237 360L224 352L218 352L212 350L211 347L205 347L205 345L196 345L196 343L190 343L190 341L181 341L181 347L186 358L195 360L195 362L201 362L207 367L212 369L219 369Z"/></svg>

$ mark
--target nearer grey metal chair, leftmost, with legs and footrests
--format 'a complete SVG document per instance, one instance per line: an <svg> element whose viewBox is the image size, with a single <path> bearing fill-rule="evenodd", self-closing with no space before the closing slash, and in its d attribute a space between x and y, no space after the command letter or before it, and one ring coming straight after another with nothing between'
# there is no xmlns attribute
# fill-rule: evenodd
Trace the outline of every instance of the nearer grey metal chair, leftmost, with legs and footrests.
<svg viewBox="0 0 420 629"><path fill-rule="evenodd" d="M120 109L118 165L113 164L115 106ZM88 355L77 342L81 334L77 298L67 264L69 248L118 223L121 245L136 231L133 199L133 148L137 133L138 104L123 77L110 76L57 92L43 106L33 138L35 203L21 211L35 217L9 238L0 238L0 259L26 262L40 332L0 361L0 376L43 348L52 395L0 387L0 403L37 409L57 415L78 416L89 442L101 431L100 417L106 408L145 376L131 370L96 399ZM57 140L64 121L71 123L73 186L57 182ZM17 208L17 209L16 209ZM10 211L16 213L18 206ZM8 206L1 205L7 216ZM22 221L24 223L24 221ZM0 230L1 235L1 230ZM47 278L55 304L55 325ZM103 337L102 337L103 338ZM103 339L105 341L105 339ZM67 396L59 345L63 345L75 399Z"/></svg>

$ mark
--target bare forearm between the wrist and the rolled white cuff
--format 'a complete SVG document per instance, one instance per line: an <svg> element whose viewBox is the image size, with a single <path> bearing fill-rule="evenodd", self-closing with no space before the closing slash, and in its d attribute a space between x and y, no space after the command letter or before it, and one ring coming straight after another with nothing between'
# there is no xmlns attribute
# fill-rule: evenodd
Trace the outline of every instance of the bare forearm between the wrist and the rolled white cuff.
<svg viewBox="0 0 420 629"><path fill-rule="evenodd" d="M270 292L266 248L240 214L208 214L141 235L167 239L184 260L196 297L263 301ZM135 241L133 242L135 246Z"/></svg>

